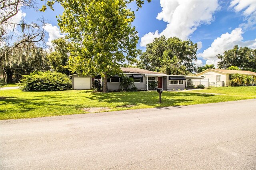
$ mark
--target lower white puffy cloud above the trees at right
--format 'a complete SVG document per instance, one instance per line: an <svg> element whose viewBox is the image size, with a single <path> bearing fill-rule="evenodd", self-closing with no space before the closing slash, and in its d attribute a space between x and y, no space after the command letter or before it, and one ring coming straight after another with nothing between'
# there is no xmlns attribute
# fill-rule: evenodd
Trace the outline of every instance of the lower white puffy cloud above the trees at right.
<svg viewBox="0 0 256 170"><path fill-rule="evenodd" d="M211 46L204 50L203 53L199 53L198 57L207 59L208 62L216 61L218 58L216 57L217 54L223 54L223 52L227 49L232 49L234 45L238 46L247 46L247 47L255 47L256 46L256 39L255 40L248 40L243 41L242 37L242 28L236 28L232 30L229 34L228 32L222 34L220 37L216 38L214 42L212 42Z"/></svg>

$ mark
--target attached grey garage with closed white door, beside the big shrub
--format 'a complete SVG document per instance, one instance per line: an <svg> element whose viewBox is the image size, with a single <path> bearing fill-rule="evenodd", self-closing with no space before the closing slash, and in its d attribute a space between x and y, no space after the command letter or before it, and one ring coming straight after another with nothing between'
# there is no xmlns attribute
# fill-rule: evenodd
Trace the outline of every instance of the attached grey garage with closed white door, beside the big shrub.
<svg viewBox="0 0 256 170"><path fill-rule="evenodd" d="M73 74L72 76L72 89L73 90L88 90L92 89L92 77Z"/></svg>

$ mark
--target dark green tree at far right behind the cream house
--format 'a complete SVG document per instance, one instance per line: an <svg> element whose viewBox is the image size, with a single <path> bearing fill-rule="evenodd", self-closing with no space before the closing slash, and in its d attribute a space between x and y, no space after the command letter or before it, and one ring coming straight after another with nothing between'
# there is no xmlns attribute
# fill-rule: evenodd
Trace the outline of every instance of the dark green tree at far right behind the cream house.
<svg viewBox="0 0 256 170"><path fill-rule="evenodd" d="M228 49L217 57L220 59L217 64L220 69L234 66L242 70L256 71L256 49L234 45L233 49Z"/></svg>

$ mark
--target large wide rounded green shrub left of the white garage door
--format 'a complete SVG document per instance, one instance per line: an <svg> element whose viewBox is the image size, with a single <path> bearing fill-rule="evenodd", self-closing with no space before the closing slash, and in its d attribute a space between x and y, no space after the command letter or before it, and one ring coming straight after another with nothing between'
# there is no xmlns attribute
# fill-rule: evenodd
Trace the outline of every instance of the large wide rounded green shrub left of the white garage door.
<svg viewBox="0 0 256 170"><path fill-rule="evenodd" d="M72 88L72 81L66 74L51 71L34 71L23 75L22 91L57 91Z"/></svg>

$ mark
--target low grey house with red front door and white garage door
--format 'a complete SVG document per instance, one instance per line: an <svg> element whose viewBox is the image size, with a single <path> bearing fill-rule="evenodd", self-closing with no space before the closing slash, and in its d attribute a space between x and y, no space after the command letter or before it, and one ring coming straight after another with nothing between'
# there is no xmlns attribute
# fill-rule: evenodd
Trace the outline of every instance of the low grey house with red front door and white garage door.
<svg viewBox="0 0 256 170"><path fill-rule="evenodd" d="M148 83L152 81L158 82L158 88L164 90L183 90L186 88L186 79L201 79L200 77L194 76L166 75L164 73L139 68L122 67L121 69L126 77L134 79L134 85L138 90L149 90ZM75 90L91 89L92 81L97 78L99 79L99 76L91 77L90 75L84 77L79 76L79 74L73 74L70 76L72 76L73 89ZM122 77L112 76L108 78L108 90L114 91L121 89L120 81L122 81Z"/></svg>

